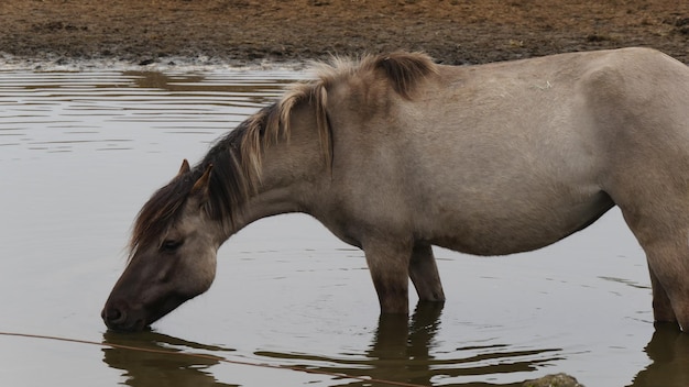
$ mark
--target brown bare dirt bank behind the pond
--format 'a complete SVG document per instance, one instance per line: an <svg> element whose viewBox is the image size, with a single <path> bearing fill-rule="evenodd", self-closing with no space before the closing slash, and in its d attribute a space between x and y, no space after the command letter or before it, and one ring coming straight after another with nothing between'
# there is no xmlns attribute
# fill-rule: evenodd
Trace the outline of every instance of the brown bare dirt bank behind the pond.
<svg viewBox="0 0 689 387"><path fill-rule="evenodd" d="M0 58L58 63L242 65L412 49L479 64L623 46L689 63L689 1L0 1Z"/></svg>

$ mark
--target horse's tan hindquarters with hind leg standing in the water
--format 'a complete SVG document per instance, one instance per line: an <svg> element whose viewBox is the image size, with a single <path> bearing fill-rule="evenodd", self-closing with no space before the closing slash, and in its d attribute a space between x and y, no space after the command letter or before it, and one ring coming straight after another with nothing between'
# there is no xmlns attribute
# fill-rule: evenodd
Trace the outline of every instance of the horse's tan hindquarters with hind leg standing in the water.
<svg viewBox="0 0 689 387"><path fill-rule="evenodd" d="M689 331L689 68L652 49L611 52L578 90L602 187L646 253L654 317Z"/></svg>

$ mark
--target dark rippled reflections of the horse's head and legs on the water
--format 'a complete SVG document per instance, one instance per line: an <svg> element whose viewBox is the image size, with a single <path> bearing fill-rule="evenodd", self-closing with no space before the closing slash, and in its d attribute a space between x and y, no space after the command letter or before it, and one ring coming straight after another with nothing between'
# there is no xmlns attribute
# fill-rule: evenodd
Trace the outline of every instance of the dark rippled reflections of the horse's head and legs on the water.
<svg viewBox="0 0 689 387"><path fill-rule="evenodd" d="M521 386L488 382L458 383L452 378L469 376L529 373L561 360L561 350L514 350L510 345L463 346L448 353L434 354L436 334L440 330L441 305L419 303L412 319L405 316L381 316L369 350L356 357L328 357L318 354L260 351L255 355L272 360L274 365L305 368L324 374L339 374L392 380L419 386ZM165 334L103 334L103 344L129 345L188 354L214 354L218 360L175 354L140 352L125 349L103 349L103 361L122 369L125 384L132 387L152 386L238 386L219 383L209 368L221 363L232 350L188 342ZM689 334L675 324L657 324L646 346L653 361L641 371L630 387L689 386ZM297 364L295 364L297 363ZM285 369L285 372L294 372ZM577 375L573 375L577 376ZM367 380L340 380L340 386L385 386ZM332 380L337 385L338 380Z"/></svg>

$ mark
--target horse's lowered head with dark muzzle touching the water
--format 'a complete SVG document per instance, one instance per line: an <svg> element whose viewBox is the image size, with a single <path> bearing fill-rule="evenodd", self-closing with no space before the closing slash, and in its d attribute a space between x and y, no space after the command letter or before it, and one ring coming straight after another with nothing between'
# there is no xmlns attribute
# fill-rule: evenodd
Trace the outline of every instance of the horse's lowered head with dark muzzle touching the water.
<svg viewBox="0 0 689 387"><path fill-rule="evenodd" d="M129 264L101 313L109 329L141 331L210 287L222 243L209 212L211 169L192 170L184 161L141 209Z"/></svg>

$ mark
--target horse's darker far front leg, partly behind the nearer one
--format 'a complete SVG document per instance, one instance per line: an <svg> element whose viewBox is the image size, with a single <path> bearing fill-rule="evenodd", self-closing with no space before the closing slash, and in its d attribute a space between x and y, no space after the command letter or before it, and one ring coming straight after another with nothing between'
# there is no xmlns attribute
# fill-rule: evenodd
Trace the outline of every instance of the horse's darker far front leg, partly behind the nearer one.
<svg viewBox="0 0 689 387"><path fill-rule="evenodd" d="M409 278L416 288L419 302L444 302L445 292L438 274L433 247L428 244L415 244L409 261Z"/></svg>

